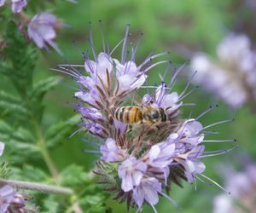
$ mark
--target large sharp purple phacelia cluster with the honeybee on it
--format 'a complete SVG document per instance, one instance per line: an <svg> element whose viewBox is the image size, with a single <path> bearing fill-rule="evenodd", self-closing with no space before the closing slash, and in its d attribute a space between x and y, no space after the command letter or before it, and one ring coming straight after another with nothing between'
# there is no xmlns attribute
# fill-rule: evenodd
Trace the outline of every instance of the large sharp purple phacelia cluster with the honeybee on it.
<svg viewBox="0 0 256 213"><path fill-rule="evenodd" d="M214 124L204 128L198 119L214 107L197 118L180 118L181 108L186 105L183 98L190 94L189 84L180 95L172 91L180 69L172 73L169 83L148 86L148 71L169 64L168 60L157 60L168 53L148 55L138 64L137 45L129 48L128 28L114 48L122 45L119 59L105 48L104 37L104 51L96 54L90 36L94 60L90 60L88 52L82 53L84 65L59 65L55 70L67 73L78 83L75 97L79 101L75 107L83 118L81 130L88 130L102 141L98 146L101 159L95 170L102 177L99 183L115 193L114 199L126 201L128 209L132 206L141 210L143 204L150 204L156 212L154 205L160 196L176 204L166 194L172 183L193 183L197 176L201 176L199 180L210 180L202 175L206 169L202 158L227 150L205 152L204 139L211 134L206 129ZM168 70L161 78L166 79L167 74ZM134 93L145 88L143 98L134 101Z"/></svg>

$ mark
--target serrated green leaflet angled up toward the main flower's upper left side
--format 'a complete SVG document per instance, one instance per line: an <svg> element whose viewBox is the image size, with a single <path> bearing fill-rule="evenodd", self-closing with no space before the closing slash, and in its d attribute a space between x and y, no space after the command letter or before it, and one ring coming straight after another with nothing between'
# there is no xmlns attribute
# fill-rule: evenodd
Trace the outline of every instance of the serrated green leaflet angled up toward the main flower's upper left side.
<svg viewBox="0 0 256 213"><path fill-rule="evenodd" d="M32 99L42 98L46 92L54 88L55 85L61 82L61 78L58 76L45 78L39 81L32 89L30 97Z"/></svg>

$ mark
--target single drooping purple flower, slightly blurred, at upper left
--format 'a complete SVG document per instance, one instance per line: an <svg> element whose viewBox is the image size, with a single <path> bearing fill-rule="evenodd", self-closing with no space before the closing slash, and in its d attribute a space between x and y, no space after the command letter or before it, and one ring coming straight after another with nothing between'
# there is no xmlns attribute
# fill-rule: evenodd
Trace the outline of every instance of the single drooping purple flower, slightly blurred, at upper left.
<svg viewBox="0 0 256 213"><path fill-rule="evenodd" d="M62 55L61 49L53 42L56 37L55 29L62 26L54 14L36 14L27 26L27 34L38 48L48 49L47 44Z"/></svg>

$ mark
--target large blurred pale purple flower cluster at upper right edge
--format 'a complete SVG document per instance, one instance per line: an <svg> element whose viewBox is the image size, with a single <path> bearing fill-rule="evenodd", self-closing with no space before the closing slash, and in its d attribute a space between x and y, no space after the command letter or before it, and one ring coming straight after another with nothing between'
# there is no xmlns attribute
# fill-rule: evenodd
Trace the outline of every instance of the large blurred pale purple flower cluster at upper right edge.
<svg viewBox="0 0 256 213"><path fill-rule="evenodd" d="M218 59L212 61L204 53L195 54L191 60L192 70L198 71L194 82L202 84L232 108L246 102L255 106L256 55L249 38L230 34L219 43L217 56Z"/></svg>

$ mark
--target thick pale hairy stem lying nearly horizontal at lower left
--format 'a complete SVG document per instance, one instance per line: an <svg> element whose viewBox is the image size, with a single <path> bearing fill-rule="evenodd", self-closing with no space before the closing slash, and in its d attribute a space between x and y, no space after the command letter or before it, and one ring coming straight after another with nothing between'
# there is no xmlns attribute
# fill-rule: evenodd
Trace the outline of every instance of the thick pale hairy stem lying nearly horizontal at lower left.
<svg viewBox="0 0 256 213"><path fill-rule="evenodd" d="M15 180L4 180L0 179L0 185L9 185L11 187L23 188L36 190L44 193L60 193L65 195L72 195L73 190L68 187L55 187L47 184L42 184L38 182L30 182L30 181L15 181Z"/></svg>

